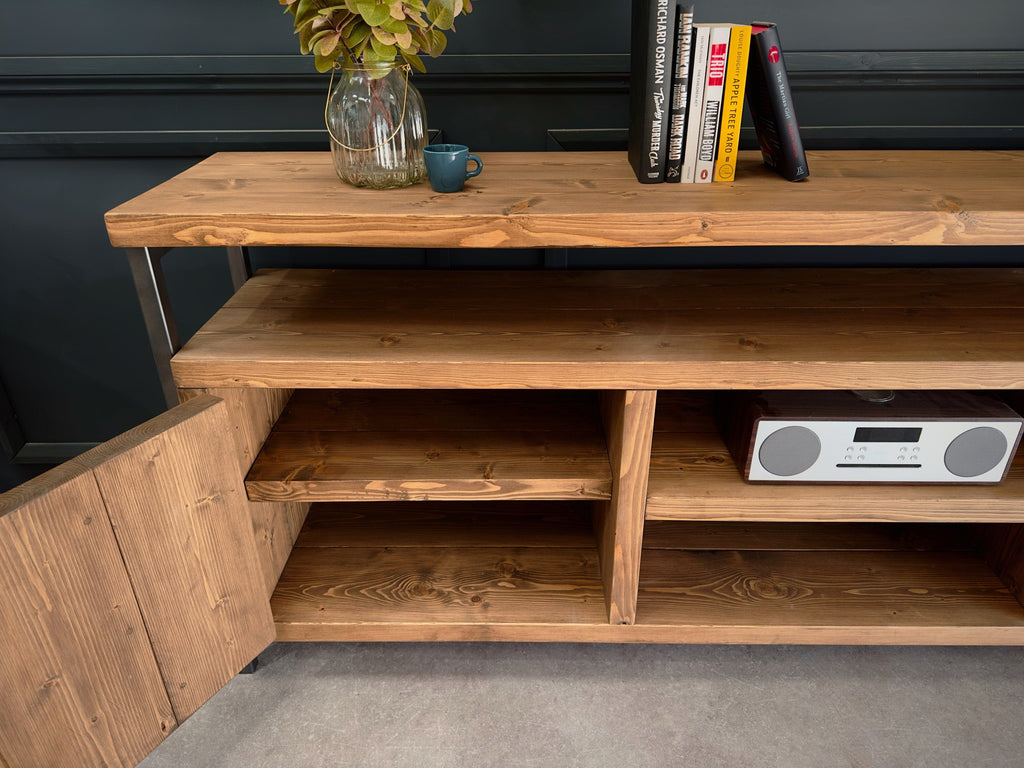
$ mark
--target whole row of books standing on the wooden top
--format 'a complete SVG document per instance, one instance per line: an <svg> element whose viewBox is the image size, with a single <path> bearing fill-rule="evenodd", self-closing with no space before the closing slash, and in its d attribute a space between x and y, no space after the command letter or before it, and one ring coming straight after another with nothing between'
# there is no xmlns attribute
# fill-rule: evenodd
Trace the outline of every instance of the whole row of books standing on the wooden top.
<svg viewBox="0 0 1024 768"><path fill-rule="evenodd" d="M808 175L777 28L695 24L693 5L633 0L629 159L643 183L735 178L743 97L765 164Z"/></svg>

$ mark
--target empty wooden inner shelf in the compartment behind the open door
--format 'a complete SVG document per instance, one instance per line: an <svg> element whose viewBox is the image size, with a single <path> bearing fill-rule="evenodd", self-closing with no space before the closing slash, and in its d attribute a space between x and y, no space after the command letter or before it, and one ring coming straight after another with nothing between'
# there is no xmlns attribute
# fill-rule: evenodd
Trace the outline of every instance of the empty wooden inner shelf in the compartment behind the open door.
<svg viewBox="0 0 1024 768"><path fill-rule="evenodd" d="M299 390L246 479L257 501L608 499L596 392Z"/></svg>

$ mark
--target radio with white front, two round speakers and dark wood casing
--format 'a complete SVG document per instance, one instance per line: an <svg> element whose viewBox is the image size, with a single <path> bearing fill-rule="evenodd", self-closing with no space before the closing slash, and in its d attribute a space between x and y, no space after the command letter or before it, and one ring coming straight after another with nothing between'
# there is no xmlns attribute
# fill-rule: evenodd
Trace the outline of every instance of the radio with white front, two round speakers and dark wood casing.
<svg viewBox="0 0 1024 768"><path fill-rule="evenodd" d="M719 403L736 465L770 482L1000 482L1024 420L967 392L763 391Z"/></svg>

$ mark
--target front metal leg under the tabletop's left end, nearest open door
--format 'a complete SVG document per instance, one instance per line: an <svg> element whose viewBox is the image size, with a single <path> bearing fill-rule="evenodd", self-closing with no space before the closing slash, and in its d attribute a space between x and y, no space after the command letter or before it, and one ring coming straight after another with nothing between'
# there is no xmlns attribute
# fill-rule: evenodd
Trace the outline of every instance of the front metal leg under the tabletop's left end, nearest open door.
<svg viewBox="0 0 1024 768"><path fill-rule="evenodd" d="M167 284L160 259L167 248L127 248L128 265L135 281L135 292L142 307L142 318L150 334L150 345L157 364L157 374L168 408L178 404L178 390L171 376L171 356L181 348L174 313L167 295Z"/></svg>

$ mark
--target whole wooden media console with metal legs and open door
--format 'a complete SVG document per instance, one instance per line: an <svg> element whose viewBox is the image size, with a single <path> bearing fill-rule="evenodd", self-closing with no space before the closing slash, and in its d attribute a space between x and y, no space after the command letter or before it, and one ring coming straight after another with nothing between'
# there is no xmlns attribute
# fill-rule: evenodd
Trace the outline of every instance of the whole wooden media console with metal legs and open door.
<svg viewBox="0 0 1024 768"><path fill-rule="evenodd" d="M1019 247L1024 153L812 153L800 184L751 155L711 185L484 161L437 195L221 154L108 214L182 404L0 497L0 757L132 765L274 639L1024 644L1024 452L995 485L755 484L711 413L1020 410L1024 268L249 278L245 251ZM160 258L208 245L239 290L178 351Z"/></svg>

